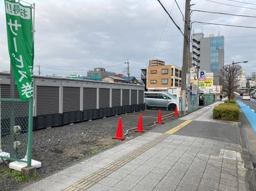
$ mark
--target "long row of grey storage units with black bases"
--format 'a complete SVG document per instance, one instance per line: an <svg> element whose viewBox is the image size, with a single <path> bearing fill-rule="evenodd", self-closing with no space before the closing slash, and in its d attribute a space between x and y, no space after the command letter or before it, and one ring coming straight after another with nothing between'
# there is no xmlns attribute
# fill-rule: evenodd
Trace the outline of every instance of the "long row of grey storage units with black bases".
<svg viewBox="0 0 256 191"><path fill-rule="evenodd" d="M0 73L0 88L10 98L9 73ZM33 95L33 130L145 109L141 85L34 76Z"/></svg>

